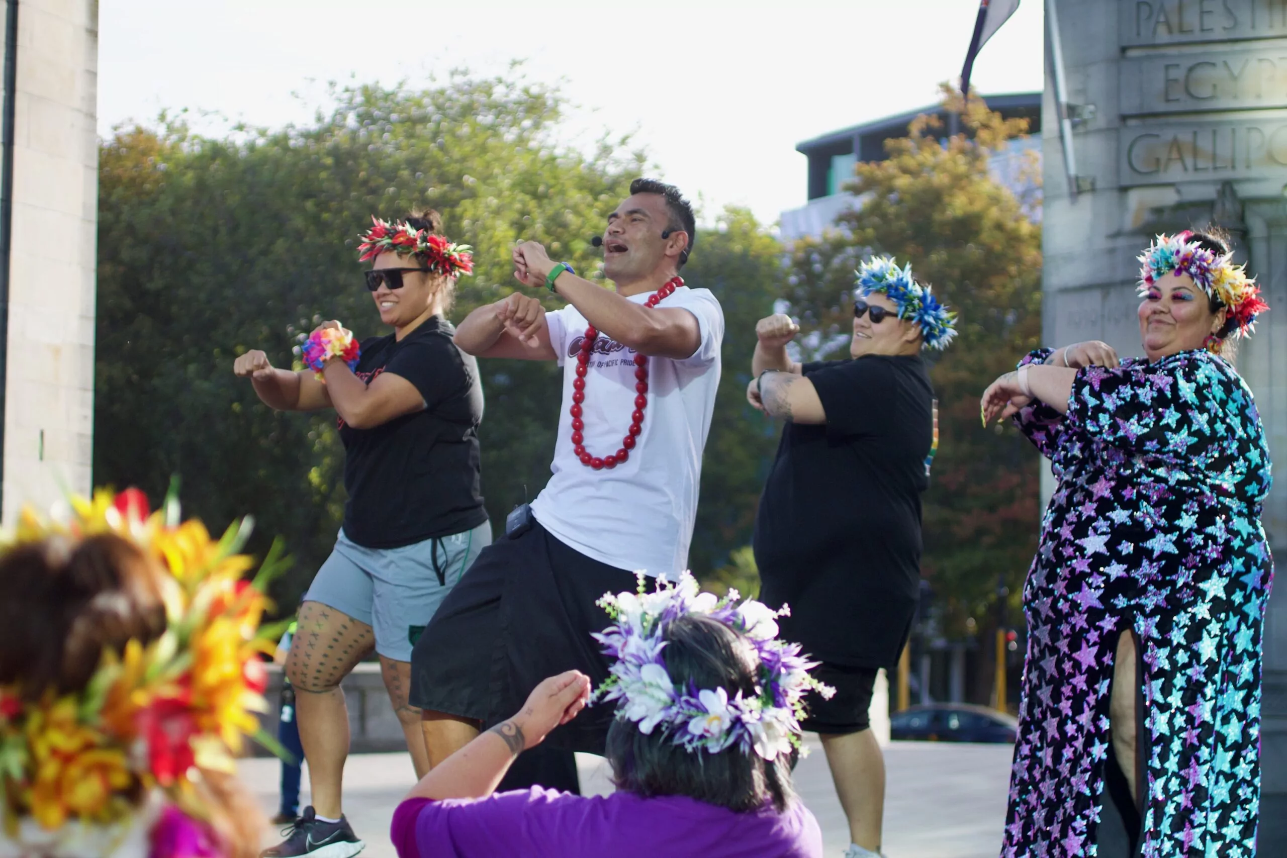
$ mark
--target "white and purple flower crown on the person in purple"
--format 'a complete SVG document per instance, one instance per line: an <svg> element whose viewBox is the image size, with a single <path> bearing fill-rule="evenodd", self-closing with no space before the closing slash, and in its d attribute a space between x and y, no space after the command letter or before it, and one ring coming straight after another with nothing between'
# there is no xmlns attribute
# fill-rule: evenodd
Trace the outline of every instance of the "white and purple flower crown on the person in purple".
<svg viewBox="0 0 1287 858"><path fill-rule="evenodd" d="M683 572L677 583L658 580L650 593L640 574L638 593L606 593L597 605L613 625L595 634L604 653L616 659L611 675L595 691L595 702L619 701L616 717L638 724L641 733L660 728L689 751L710 754L736 745L766 760L801 747L799 720L804 693L811 688L830 698L835 689L808 674L817 666L801 655L798 643L777 639L777 617L754 599L737 605L737 592L723 598L698 592L698 581ZM755 696L741 692L732 700L725 688L676 687L662 651L671 623L700 614L744 634L759 656Z"/></svg>

